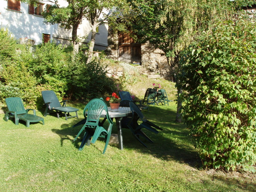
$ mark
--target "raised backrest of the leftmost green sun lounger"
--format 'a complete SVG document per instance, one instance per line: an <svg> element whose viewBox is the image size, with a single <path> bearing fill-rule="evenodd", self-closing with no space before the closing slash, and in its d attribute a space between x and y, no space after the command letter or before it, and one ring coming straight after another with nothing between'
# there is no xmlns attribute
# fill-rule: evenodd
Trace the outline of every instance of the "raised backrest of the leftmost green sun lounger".
<svg viewBox="0 0 256 192"><path fill-rule="evenodd" d="M9 111L14 111L17 115L27 113L20 97L6 98L5 102Z"/></svg>

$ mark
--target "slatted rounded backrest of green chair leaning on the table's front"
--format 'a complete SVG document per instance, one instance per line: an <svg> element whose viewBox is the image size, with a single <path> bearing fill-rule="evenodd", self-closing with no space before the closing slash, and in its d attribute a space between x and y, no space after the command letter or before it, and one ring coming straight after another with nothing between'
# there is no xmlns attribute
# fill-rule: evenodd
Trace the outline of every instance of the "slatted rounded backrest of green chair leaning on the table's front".
<svg viewBox="0 0 256 192"><path fill-rule="evenodd" d="M112 120L108 116L108 106L102 98L95 98L90 100L84 107L84 117L86 117L86 127L97 128L100 115L102 111L106 111L106 118L110 124L113 124Z"/></svg>

